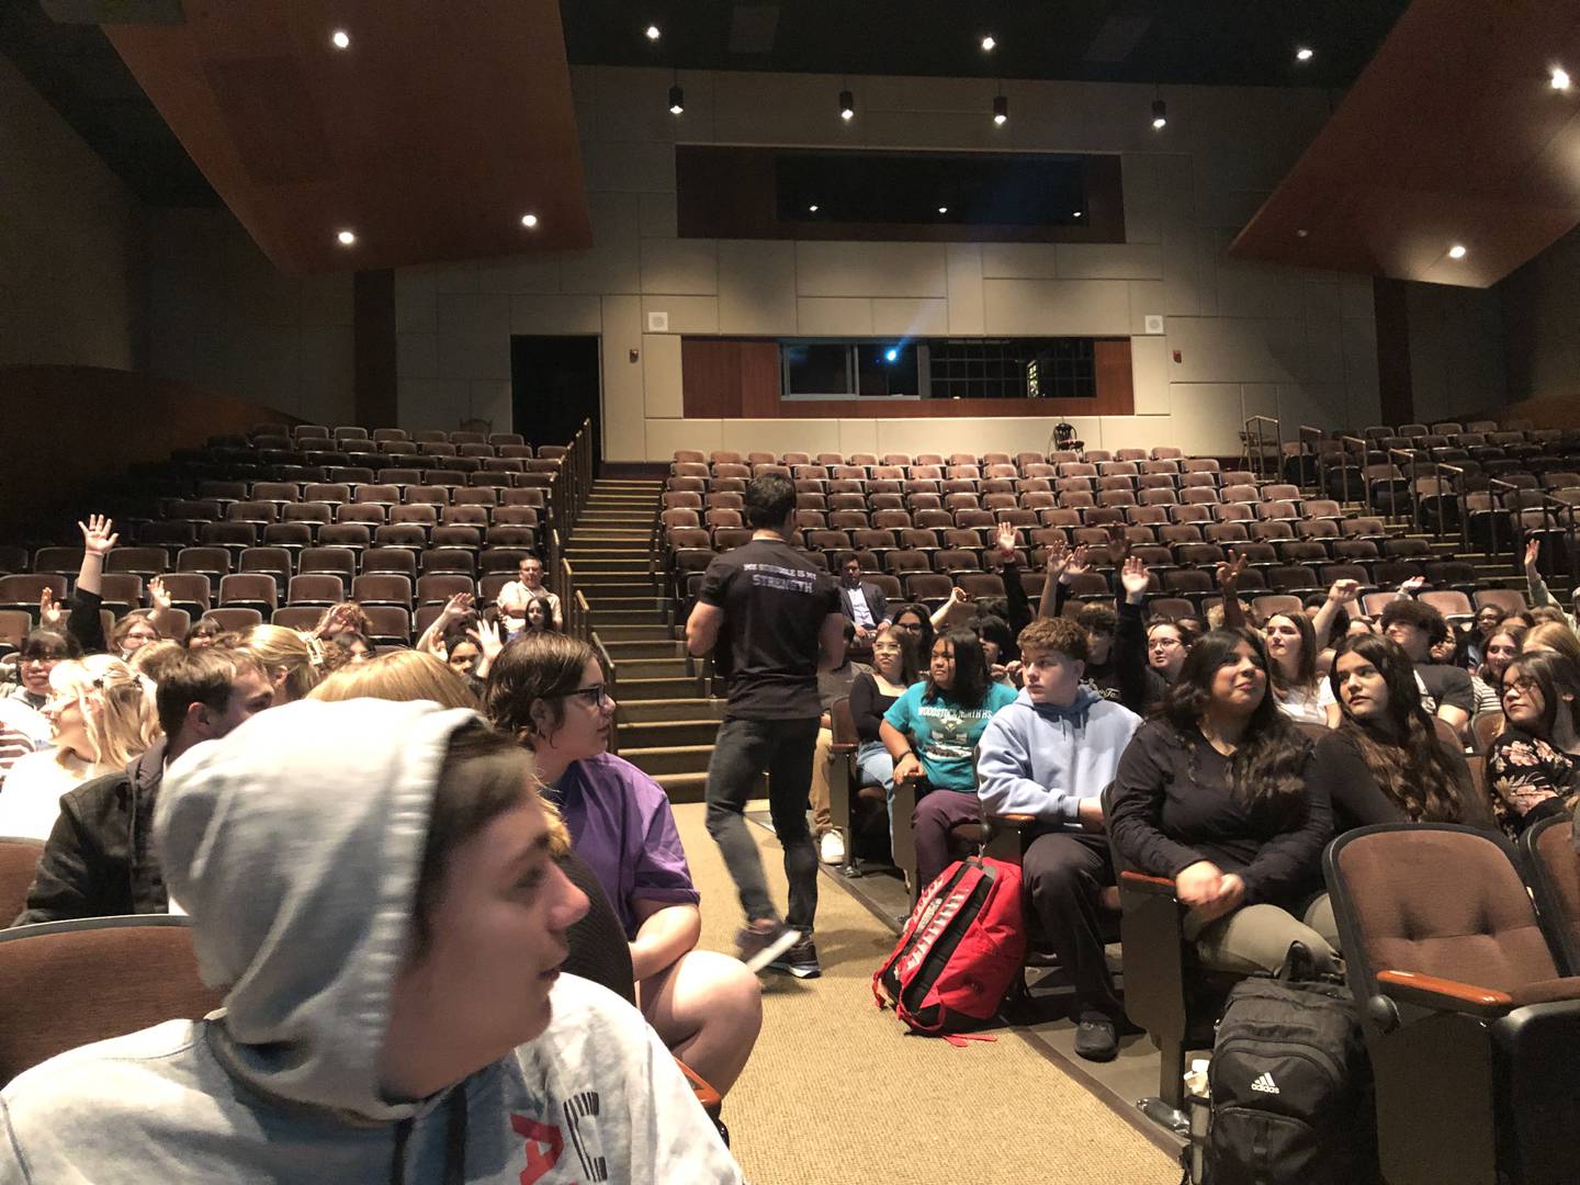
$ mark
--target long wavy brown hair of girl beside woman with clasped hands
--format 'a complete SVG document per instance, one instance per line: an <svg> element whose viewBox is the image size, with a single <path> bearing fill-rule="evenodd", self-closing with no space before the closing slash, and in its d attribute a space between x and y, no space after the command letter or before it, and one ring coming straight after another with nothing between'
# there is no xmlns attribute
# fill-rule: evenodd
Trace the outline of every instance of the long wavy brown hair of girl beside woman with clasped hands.
<svg viewBox="0 0 1580 1185"><path fill-rule="evenodd" d="M1387 684L1387 709L1381 719L1357 720L1349 714L1349 705L1340 694L1345 678L1338 673L1338 660L1346 654L1359 654L1370 662ZM1416 667L1398 643L1376 634L1352 634L1334 654L1327 679L1343 711L1338 732L1360 749L1382 793L1413 822L1460 822L1458 771L1420 702Z"/></svg>

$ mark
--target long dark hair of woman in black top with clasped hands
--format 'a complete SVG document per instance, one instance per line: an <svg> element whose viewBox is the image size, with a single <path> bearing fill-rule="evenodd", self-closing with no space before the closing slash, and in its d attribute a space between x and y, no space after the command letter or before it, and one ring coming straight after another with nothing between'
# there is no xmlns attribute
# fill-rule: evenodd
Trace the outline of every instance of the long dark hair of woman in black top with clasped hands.
<svg viewBox="0 0 1580 1185"><path fill-rule="evenodd" d="M1179 678L1163 697L1158 716L1174 725L1180 739L1191 747L1206 744L1201 724L1212 705L1212 684L1218 670L1239 662L1240 646L1250 646L1251 660L1266 675L1267 649L1261 637L1248 629L1215 629L1191 646ZM1234 796L1253 817L1288 820L1305 798L1305 766L1310 743L1296 730L1278 706L1272 687L1251 711L1229 765Z"/></svg>

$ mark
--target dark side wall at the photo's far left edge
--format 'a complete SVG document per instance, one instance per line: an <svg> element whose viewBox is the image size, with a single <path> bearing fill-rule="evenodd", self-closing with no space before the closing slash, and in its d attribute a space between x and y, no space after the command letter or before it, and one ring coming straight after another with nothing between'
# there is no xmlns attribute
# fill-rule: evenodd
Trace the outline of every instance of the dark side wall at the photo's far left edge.
<svg viewBox="0 0 1580 1185"><path fill-rule="evenodd" d="M139 205L0 57L0 365L139 363Z"/></svg>

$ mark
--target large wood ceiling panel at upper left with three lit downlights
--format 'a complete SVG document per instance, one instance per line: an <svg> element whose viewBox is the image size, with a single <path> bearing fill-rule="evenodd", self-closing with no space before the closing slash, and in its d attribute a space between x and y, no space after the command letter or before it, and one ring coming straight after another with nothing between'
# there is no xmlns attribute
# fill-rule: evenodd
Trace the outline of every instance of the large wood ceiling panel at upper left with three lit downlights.
<svg viewBox="0 0 1580 1185"><path fill-rule="evenodd" d="M465 17L387 0L183 8L183 25L104 32L281 270L592 245L553 0L468 0Z"/></svg>

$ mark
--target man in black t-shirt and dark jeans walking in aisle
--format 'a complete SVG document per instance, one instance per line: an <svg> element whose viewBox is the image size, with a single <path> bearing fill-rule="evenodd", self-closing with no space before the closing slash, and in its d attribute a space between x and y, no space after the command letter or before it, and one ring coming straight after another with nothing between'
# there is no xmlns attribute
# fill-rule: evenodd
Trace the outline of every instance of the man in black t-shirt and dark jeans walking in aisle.
<svg viewBox="0 0 1580 1185"><path fill-rule="evenodd" d="M817 848L806 825L820 703L817 672L845 656L839 588L790 547L795 485L765 474L746 487L752 540L716 556L686 623L686 648L730 683L730 702L708 763L708 834L719 844L746 929L736 943L752 970L818 975ZM768 809L785 853L790 908L779 916L763 861L746 830L746 801L768 774Z"/></svg>

